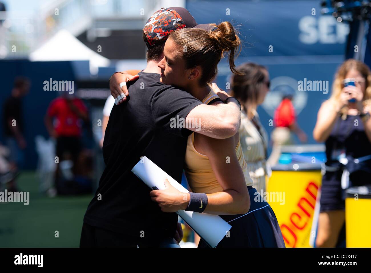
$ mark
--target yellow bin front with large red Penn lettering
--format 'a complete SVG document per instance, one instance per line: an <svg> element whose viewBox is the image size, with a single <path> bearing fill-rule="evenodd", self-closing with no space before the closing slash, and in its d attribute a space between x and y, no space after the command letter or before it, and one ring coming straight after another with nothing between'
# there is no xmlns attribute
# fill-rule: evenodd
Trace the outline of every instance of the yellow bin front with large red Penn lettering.
<svg viewBox="0 0 371 273"><path fill-rule="evenodd" d="M321 170L273 170L267 194L281 193L284 202L267 200L276 214L286 247L311 247L309 240L316 201L321 187Z"/></svg>

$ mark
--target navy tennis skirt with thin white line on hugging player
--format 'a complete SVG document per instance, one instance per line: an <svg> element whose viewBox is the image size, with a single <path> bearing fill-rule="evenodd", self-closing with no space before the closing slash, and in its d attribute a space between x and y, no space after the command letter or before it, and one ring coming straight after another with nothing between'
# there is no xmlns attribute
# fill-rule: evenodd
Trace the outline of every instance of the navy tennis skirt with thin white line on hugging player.
<svg viewBox="0 0 371 273"><path fill-rule="evenodd" d="M246 214L220 215L232 228L217 247L285 247L277 218L260 194L249 186L250 210ZM256 195L259 194L259 198ZM198 247L209 247L202 239Z"/></svg>

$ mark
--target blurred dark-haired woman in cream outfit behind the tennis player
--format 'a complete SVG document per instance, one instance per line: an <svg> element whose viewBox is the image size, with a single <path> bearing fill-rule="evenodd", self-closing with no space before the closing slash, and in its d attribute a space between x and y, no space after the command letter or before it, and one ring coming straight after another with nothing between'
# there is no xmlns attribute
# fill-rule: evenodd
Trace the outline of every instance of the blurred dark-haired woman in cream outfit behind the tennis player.
<svg viewBox="0 0 371 273"><path fill-rule="evenodd" d="M245 73L243 76L234 74L232 78L233 96L242 105L240 142L253 187L259 193L260 190L265 192L269 168L266 166L268 135L256 109L269 92L269 73L265 67L255 63L245 63L237 69Z"/></svg>

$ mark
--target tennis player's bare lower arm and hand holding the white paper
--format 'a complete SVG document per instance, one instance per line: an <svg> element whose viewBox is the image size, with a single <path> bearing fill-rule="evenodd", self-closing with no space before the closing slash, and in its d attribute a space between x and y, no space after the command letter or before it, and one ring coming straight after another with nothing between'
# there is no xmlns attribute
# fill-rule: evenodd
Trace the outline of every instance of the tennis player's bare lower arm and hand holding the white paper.
<svg viewBox="0 0 371 273"><path fill-rule="evenodd" d="M197 134L195 138L196 145L202 147L196 148L197 151L209 157L215 176L223 189L206 194L208 203L204 212L219 215L247 213L250 209L250 196L236 156L236 136L213 139ZM164 184L166 189L150 192L152 201L157 202L163 212L187 209L190 194L178 191L168 180L165 180Z"/></svg>

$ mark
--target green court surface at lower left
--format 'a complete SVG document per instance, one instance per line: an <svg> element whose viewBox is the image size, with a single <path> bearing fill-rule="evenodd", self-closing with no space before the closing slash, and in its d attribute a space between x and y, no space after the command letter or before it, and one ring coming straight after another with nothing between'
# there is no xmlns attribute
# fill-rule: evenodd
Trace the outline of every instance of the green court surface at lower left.
<svg viewBox="0 0 371 273"><path fill-rule="evenodd" d="M35 172L24 172L17 181L20 191L30 192L30 203L0 202L0 247L78 247L93 195L46 197Z"/></svg>

